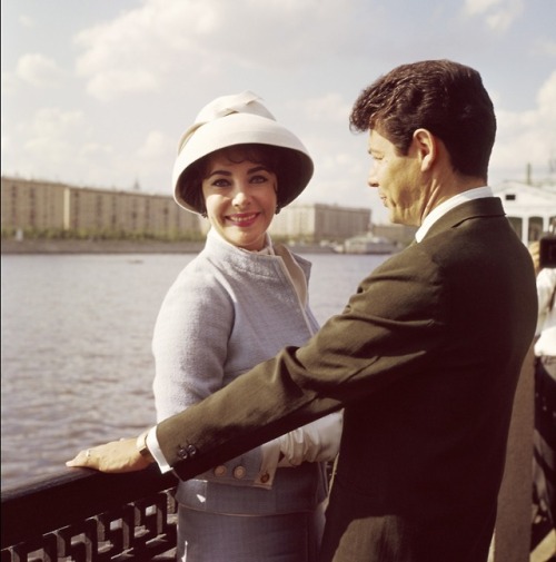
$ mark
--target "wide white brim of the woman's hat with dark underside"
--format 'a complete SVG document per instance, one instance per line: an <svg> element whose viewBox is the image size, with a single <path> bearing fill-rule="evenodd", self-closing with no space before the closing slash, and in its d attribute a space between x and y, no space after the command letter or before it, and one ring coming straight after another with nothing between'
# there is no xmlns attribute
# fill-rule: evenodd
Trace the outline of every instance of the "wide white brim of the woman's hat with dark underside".
<svg viewBox="0 0 556 562"><path fill-rule="evenodd" d="M185 185L187 169L205 156L237 145L259 144L280 147L285 150L284 170L280 177L278 203L281 208L295 200L309 184L314 164L304 144L288 129L272 119L258 115L231 114L200 126L179 152L172 171L173 198L187 210L201 214Z"/></svg>

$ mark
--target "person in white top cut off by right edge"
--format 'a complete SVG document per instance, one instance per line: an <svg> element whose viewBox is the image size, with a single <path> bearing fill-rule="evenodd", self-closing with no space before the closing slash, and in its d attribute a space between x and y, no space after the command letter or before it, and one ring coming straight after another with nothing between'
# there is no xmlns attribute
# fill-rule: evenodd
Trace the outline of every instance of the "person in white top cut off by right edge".
<svg viewBox="0 0 556 562"><path fill-rule="evenodd" d="M556 238L552 238L552 243L556 243ZM556 264L544 266L540 263L539 241L533 243L529 250L537 274L538 297L533 457L536 521L532 542L535 548L547 530L556 530ZM556 551L550 560L556 560Z"/></svg>

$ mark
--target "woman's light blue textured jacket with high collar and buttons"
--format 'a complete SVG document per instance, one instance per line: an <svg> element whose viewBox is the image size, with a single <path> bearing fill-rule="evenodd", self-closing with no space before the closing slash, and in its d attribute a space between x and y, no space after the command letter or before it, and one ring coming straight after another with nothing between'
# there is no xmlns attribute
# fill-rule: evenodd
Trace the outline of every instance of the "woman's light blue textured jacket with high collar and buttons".
<svg viewBox="0 0 556 562"><path fill-rule="evenodd" d="M266 255L210 230L203 250L168 290L155 327L158 420L215 393L284 346L302 345L318 324L307 303L310 263L285 247ZM312 510L326 496L322 463L278 469L261 487L261 447L180 482L178 501L216 513Z"/></svg>

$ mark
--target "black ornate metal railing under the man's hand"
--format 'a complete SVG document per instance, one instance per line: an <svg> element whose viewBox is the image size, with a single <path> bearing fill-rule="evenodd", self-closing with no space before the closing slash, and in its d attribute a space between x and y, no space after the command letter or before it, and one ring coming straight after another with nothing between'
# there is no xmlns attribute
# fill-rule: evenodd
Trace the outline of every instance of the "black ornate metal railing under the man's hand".
<svg viewBox="0 0 556 562"><path fill-rule="evenodd" d="M173 560L177 482L155 465L128 474L68 469L2 490L1 562Z"/></svg>

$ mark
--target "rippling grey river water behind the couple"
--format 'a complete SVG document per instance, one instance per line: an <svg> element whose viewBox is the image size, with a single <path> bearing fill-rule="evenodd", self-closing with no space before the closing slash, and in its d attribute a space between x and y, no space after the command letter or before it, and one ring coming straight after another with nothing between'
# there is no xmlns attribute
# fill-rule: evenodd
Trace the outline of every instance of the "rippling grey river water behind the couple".
<svg viewBox="0 0 556 562"><path fill-rule="evenodd" d="M155 423L152 328L192 254L2 255L2 489ZM387 256L311 254L319 322Z"/></svg>

